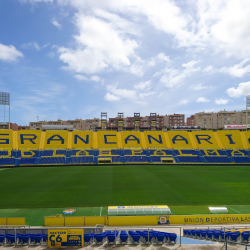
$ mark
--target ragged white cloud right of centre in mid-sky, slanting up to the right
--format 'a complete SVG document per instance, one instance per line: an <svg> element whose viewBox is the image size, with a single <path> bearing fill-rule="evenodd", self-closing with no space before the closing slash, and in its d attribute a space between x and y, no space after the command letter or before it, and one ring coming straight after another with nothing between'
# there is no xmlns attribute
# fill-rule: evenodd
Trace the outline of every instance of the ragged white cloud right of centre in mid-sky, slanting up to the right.
<svg viewBox="0 0 250 250"><path fill-rule="evenodd" d="M181 85L187 77L200 70L200 67L194 67L197 63L198 61L194 60L188 63L183 63L183 71L166 68L165 74L161 77L160 81L165 83L169 88L172 88L176 85Z"/></svg>

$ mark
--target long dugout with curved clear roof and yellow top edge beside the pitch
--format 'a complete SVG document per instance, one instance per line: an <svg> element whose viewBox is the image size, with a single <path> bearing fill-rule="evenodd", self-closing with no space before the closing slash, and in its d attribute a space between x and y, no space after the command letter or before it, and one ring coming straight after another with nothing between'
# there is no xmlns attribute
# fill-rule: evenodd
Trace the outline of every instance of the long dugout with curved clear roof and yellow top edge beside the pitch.
<svg viewBox="0 0 250 250"><path fill-rule="evenodd" d="M109 216L170 215L168 206L109 206Z"/></svg>

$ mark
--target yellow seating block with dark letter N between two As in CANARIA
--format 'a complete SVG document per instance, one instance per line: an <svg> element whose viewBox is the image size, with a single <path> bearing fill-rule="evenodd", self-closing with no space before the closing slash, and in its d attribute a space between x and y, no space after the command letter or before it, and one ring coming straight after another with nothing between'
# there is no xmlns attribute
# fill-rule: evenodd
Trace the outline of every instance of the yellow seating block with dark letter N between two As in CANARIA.
<svg viewBox="0 0 250 250"><path fill-rule="evenodd" d="M167 142L162 131L145 131L144 138L147 148L167 148Z"/></svg>

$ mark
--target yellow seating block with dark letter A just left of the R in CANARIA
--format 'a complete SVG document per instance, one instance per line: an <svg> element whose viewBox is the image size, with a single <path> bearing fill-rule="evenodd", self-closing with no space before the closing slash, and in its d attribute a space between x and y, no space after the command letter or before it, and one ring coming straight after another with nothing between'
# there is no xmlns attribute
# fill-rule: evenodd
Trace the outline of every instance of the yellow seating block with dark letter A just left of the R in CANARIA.
<svg viewBox="0 0 250 250"><path fill-rule="evenodd" d="M187 131L169 131L167 134L172 148L193 148Z"/></svg>

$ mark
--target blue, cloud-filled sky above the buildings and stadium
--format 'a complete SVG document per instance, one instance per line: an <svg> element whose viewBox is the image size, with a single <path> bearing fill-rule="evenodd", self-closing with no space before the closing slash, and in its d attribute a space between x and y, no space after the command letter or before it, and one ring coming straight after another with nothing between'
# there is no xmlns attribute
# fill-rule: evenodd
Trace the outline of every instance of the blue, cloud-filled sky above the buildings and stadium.
<svg viewBox="0 0 250 250"><path fill-rule="evenodd" d="M249 44L249 0L1 0L0 91L19 125L243 110Z"/></svg>

